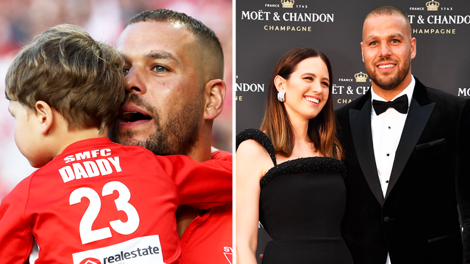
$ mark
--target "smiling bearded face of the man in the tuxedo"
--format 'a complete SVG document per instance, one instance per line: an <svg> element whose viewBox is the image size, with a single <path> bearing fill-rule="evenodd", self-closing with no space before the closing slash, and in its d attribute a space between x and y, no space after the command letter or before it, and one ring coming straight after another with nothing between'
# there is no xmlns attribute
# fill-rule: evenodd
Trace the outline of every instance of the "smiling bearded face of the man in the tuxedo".
<svg viewBox="0 0 470 264"><path fill-rule="evenodd" d="M405 19L398 15L372 16L362 29L362 61L371 80L384 90L397 88L411 78L411 59L416 39Z"/></svg>

